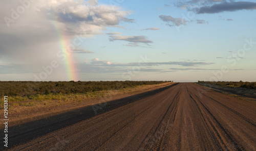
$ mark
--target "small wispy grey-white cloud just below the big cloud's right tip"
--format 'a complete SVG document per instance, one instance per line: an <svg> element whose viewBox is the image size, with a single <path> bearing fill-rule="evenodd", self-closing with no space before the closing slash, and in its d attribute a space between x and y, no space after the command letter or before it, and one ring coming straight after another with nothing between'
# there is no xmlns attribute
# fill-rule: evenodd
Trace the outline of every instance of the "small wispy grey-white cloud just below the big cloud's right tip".
<svg viewBox="0 0 256 151"><path fill-rule="evenodd" d="M130 43L127 46L141 46L139 43L144 44L146 46L150 46L149 43L153 43L153 41L148 40L146 36L122 36L121 33L108 33L109 40L122 40L129 41Z"/></svg>

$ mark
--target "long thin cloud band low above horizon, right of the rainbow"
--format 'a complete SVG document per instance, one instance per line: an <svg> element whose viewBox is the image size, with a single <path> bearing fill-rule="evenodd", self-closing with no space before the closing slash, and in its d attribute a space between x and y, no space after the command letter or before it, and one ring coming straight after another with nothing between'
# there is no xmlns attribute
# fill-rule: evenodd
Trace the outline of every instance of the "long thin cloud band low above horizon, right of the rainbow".
<svg viewBox="0 0 256 151"><path fill-rule="evenodd" d="M204 68L170 68L159 69L159 66L163 65L180 65L180 66L201 66L201 65L211 65L214 63L207 62L130 62L130 63L117 63L108 60L101 61L99 58L94 58L92 60L86 59L84 63L78 63L80 73L120 73L127 72L127 70L133 70L134 67L138 67L139 71L142 72L174 72L178 70L206 70ZM213 70L213 69L209 69Z"/></svg>

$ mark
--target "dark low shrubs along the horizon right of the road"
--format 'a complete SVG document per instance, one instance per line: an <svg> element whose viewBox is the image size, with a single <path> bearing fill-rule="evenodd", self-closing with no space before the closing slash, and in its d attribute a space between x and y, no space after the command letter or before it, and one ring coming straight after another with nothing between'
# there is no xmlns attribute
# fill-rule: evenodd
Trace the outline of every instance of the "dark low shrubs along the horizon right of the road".
<svg viewBox="0 0 256 151"><path fill-rule="evenodd" d="M210 82L210 81L198 81L202 83L216 84L225 87L242 87L242 88L250 88L256 89L256 82L226 82L226 81L218 81L218 82Z"/></svg>

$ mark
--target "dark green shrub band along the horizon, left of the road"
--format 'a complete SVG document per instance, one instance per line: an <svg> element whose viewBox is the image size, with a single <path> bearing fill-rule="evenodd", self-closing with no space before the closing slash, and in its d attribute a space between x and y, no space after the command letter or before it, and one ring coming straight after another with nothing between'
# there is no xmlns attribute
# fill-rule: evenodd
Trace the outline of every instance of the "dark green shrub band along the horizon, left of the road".
<svg viewBox="0 0 256 151"><path fill-rule="evenodd" d="M88 82L32 82L32 81L0 81L0 94L8 96L24 96L49 93L86 93L102 90L117 90L139 85L161 84L170 81L88 81Z"/></svg>

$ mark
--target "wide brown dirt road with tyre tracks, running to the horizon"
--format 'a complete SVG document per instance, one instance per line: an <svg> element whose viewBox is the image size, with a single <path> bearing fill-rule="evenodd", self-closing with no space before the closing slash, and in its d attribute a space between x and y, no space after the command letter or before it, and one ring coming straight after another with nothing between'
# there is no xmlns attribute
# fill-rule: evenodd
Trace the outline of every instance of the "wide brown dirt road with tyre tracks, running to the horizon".
<svg viewBox="0 0 256 151"><path fill-rule="evenodd" d="M178 83L9 150L256 150L256 104Z"/></svg>

